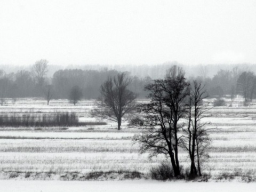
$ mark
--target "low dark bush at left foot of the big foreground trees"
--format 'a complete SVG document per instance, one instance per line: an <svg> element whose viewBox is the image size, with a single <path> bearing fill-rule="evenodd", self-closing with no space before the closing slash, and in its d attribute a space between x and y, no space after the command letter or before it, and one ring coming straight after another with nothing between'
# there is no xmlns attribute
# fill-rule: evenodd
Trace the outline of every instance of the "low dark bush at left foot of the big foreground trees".
<svg viewBox="0 0 256 192"><path fill-rule="evenodd" d="M151 179L165 181L174 178L174 171L170 163L162 162L161 165L152 167L149 171L149 175Z"/></svg>

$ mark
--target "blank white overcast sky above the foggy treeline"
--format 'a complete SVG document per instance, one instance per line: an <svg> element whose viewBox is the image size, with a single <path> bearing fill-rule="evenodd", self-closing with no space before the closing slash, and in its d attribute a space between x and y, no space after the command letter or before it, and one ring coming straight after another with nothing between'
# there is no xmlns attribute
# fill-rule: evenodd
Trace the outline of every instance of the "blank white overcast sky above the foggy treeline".
<svg viewBox="0 0 256 192"><path fill-rule="evenodd" d="M0 65L256 63L256 1L0 0Z"/></svg>

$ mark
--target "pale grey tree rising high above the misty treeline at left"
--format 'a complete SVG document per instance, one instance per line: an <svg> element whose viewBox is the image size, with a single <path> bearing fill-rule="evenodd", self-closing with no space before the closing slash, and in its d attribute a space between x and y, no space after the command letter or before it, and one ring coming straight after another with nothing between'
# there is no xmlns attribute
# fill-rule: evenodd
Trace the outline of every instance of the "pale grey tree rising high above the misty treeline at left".
<svg viewBox="0 0 256 192"><path fill-rule="evenodd" d="M45 76L48 72L48 62L47 60L45 59L41 59L39 61L36 61L35 64L33 65L32 67L32 75L33 77L35 78L36 80L36 83L38 84L38 86L40 88L43 87L44 85L44 79L45 79Z"/></svg>

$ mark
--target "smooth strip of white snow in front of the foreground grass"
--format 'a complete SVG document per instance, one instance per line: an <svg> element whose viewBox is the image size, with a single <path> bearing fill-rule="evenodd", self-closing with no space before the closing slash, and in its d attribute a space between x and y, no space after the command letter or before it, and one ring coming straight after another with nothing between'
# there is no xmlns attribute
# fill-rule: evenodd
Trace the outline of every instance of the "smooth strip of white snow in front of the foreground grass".
<svg viewBox="0 0 256 192"><path fill-rule="evenodd" d="M12 181L0 180L0 191L5 192L254 192L256 183L239 182L158 182L152 180L127 181Z"/></svg>

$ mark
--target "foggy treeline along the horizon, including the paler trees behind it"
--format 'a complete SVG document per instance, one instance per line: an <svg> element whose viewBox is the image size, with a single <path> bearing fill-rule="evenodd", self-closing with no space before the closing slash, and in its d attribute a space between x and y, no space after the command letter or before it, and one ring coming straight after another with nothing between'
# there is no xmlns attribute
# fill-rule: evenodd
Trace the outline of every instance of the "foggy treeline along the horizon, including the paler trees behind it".
<svg viewBox="0 0 256 192"><path fill-rule="evenodd" d="M44 61L44 60L41 60ZM47 75L35 76L35 71L29 70L19 70L17 73L5 73L0 70L0 103L3 105L3 98L25 98L25 97L51 97L52 99L69 99L70 90L74 86L79 86L83 93L84 99L97 99L100 95L99 90L103 82L109 77L114 77L119 72L124 69L129 69L127 74L131 78L131 83L129 89L139 96L138 98L145 98L147 93L144 90L146 84L148 84L151 79L164 78L164 74L167 68L170 68L173 64L177 63L165 63L156 66L121 66L117 68L118 70L108 70L108 68L93 69L93 70L83 70L83 69L61 69L55 71L51 77ZM46 66L48 69L51 66ZM126 68L125 68L126 67ZM192 67L182 66L185 71L189 71ZM218 67L218 71L216 70ZM139 69L139 70L138 70ZM154 69L154 70L152 70ZM195 71L195 74L191 74L191 71ZM244 97L250 94L250 99L256 97L256 80L254 81L253 66L251 65L237 65L234 66L196 66L194 70L191 70L189 75L186 76L188 80L199 78L205 84L205 88L211 97L222 97L222 95L242 94ZM255 69L256 70L256 69ZM217 71L215 75L210 76L212 71ZM250 82L247 87L251 90L250 93L243 91L243 87L238 86L241 82L237 82L239 76L244 71L251 71ZM155 72L155 75L154 75ZM139 75L150 74L150 76ZM34 75L33 75L34 74ZM45 73L47 74L47 73ZM137 74L138 76L134 76ZM161 75L162 74L162 75ZM244 81L246 80L245 76ZM242 80L241 80L242 81ZM255 89L254 89L255 87ZM50 90L50 91L49 91ZM255 92L255 93L254 93Z"/></svg>

